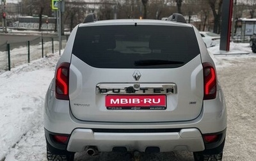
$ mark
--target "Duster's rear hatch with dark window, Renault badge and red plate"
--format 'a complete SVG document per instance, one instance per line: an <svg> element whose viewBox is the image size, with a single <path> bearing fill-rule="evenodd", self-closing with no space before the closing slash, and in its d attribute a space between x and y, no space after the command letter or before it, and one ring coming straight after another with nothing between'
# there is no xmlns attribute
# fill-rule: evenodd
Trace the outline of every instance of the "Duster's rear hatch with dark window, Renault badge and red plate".
<svg viewBox="0 0 256 161"><path fill-rule="evenodd" d="M79 27L70 108L84 121L188 121L202 111L203 77L192 27Z"/></svg>

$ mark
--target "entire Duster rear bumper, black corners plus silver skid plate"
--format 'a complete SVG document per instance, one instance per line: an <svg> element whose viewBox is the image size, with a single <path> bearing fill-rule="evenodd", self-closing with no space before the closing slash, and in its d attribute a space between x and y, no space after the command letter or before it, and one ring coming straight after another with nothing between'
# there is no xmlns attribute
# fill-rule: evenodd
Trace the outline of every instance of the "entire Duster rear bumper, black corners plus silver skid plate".
<svg viewBox="0 0 256 161"><path fill-rule="evenodd" d="M210 144L205 144L202 134L197 128L177 130L179 129L172 129L173 132L127 132L127 130L124 132L122 132L123 130L100 132L100 129L77 128L71 135L68 135L69 139L65 144L52 139L53 135L61 134L53 134L45 130L45 137L47 148L56 154L86 151L90 147L95 147L99 151L115 151L116 148L145 152L150 148L156 148L159 150L157 152L186 150L200 151L204 154L223 151L226 130L219 132L218 140Z"/></svg>

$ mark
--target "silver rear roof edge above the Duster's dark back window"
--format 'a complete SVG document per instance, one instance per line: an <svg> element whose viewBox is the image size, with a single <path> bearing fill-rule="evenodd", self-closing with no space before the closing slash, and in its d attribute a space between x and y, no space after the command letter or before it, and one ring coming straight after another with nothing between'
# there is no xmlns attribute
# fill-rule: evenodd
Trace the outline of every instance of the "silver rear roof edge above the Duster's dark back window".
<svg viewBox="0 0 256 161"><path fill-rule="evenodd" d="M192 27L191 24L182 22L172 22L170 20L150 20L150 19L117 19L117 20L97 20L95 22L86 22L79 24L79 27L85 26L116 26L116 25L155 25L155 26L180 26Z"/></svg>

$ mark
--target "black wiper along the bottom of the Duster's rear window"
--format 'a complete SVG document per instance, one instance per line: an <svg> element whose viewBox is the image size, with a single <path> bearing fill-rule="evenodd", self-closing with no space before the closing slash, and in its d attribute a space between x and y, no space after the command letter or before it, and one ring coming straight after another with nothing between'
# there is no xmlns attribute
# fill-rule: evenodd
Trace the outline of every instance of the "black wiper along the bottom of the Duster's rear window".
<svg viewBox="0 0 256 161"><path fill-rule="evenodd" d="M150 66L150 65L180 65L183 64L183 61L169 61L169 60L157 60L157 59L148 59L148 60L138 60L134 61L135 66Z"/></svg>

